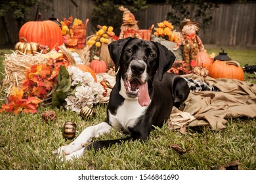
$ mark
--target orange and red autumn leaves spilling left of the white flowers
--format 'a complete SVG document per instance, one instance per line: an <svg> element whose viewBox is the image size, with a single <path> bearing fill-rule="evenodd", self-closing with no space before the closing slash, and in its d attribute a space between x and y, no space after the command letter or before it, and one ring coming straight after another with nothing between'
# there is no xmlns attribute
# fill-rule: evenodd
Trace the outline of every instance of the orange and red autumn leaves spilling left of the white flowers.
<svg viewBox="0 0 256 183"><path fill-rule="evenodd" d="M12 86L7 104L1 105L0 112L35 113L52 90L60 65L68 65L64 58L49 58L46 64L32 65L26 71L20 88Z"/></svg>

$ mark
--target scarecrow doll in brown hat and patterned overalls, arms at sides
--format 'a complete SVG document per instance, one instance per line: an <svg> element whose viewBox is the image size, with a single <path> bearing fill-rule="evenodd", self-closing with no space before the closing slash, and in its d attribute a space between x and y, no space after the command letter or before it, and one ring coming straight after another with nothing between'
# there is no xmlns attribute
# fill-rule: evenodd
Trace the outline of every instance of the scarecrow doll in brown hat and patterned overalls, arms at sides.
<svg viewBox="0 0 256 183"><path fill-rule="evenodd" d="M186 69L191 71L196 66L198 52L205 50L201 39L196 35L196 32L199 31L198 23L185 18L179 28L182 37L173 50L178 50L179 46L183 45L183 58L188 65Z"/></svg>

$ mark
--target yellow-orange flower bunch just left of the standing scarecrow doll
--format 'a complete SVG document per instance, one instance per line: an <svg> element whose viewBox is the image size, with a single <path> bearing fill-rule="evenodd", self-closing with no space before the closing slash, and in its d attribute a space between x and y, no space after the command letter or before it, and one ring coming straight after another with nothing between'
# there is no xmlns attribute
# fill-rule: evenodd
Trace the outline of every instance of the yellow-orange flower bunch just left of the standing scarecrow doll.
<svg viewBox="0 0 256 183"><path fill-rule="evenodd" d="M158 23L158 27L155 27L154 29L156 30L156 32L154 32L156 37L161 37L171 42L179 41L179 33L173 30L173 25L166 20Z"/></svg>

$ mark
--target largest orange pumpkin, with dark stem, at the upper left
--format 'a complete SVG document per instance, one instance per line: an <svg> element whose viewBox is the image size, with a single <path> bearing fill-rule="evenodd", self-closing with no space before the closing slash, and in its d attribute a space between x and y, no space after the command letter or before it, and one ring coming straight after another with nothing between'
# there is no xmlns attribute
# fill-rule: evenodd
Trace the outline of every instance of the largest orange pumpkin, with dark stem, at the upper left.
<svg viewBox="0 0 256 183"><path fill-rule="evenodd" d="M37 42L47 45L52 50L58 51L58 46L62 44L62 31L60 27L51 20L41 21L41 14L37 21L26 22L19 31L20 42L24 42L24 37L28 42Z"/></svg>

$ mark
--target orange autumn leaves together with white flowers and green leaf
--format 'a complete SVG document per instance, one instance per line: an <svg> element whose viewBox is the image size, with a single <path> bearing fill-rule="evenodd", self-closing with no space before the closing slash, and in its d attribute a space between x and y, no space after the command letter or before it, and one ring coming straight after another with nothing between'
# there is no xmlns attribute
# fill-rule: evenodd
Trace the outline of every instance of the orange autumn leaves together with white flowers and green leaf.
<svg viewBox="0 0 256 183"><path fill-rule="evenodd" d="M68 68L68 69L67 69ZM83 72L62 58L49 58L46 64L32 65L20 87L12 86L7 104L0 112L35 113L40 103L80 112L93 107L106 92L89 72Z"/></svg>

